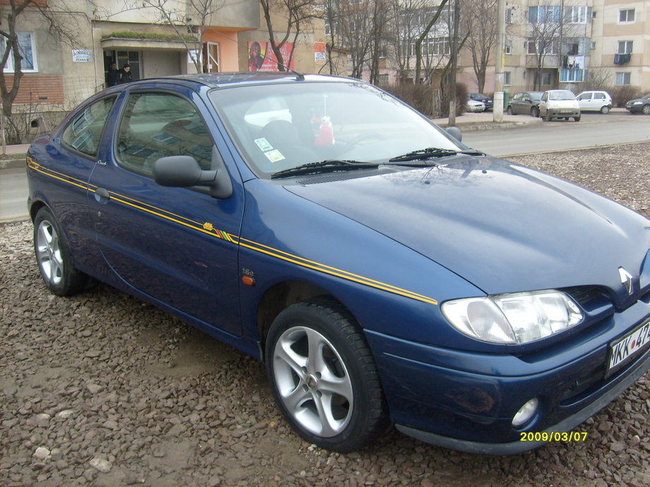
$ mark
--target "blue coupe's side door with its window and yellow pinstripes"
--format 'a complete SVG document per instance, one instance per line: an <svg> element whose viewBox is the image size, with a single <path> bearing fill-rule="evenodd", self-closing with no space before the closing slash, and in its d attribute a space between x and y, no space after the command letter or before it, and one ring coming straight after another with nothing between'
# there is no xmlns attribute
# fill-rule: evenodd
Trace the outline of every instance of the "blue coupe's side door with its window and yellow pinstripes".
<svg viewBox="0 0 650 487"><path fill-rule="evenodd" d="M201 322L241 335L237 245L244 193L213 198L201 188L153 180L159 157L191 155L202 169L232 164L215 121L190 90L127 90L112 141L91 175L91 215L112 271L137 291ZM220 150L221 149L221 150ZM225 162L224 162L225 160Z"/></svg>

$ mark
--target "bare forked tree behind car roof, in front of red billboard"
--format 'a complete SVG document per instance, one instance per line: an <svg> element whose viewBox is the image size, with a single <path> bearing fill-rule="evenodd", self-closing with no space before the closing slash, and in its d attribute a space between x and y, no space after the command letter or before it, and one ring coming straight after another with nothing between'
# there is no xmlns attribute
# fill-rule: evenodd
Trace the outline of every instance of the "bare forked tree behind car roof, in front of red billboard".
<svg viewBox="0 0 650 487"><path fill-rule="evenodd" d="M291 64L293 50L290 52L289 59L285 61L282 47L289 39L292 39L295 46L298 37L310 25L312 18L317 17L317 6L313 0L259 0L259 3L264 11L268 40L278 60L278 71L287 71L287 67ZM286 20L285 30L279 42L273 30L272 12L283 12Z"/></svg>

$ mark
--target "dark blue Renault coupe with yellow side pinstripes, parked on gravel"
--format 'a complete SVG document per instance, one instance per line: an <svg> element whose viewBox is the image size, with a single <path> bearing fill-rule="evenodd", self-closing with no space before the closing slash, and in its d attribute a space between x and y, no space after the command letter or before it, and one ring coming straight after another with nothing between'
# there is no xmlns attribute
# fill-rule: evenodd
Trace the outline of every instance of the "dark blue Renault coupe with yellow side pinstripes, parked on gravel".
<svg viewBox="0 0 650 487"><path fill-rule="evenodd" d="M40 273L264 361L320 447L579 433L650 366L650 222L453 135L347 78L109 88L28 152Z"/></svg>

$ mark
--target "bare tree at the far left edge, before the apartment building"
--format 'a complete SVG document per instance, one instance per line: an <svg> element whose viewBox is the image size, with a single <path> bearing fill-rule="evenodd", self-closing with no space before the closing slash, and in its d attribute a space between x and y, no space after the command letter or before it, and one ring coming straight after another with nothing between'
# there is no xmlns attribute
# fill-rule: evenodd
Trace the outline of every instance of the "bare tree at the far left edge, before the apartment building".
<svg viewBox="0 0 650 487"><path fill-rule="evenodd" d="M76 45L78 33L73 20L71 9L63 0L6 0L0 5L0 97L2 98L2 114L8 124L6 127L7 143L20 143L21 132L19 124L14 123L13 102L20 89L20 79L23 78L25 62L29 63L28 46L25 38L18 29L20 20L31 15L37 21L47 26L52 39L71 46ZM32 20L33 21L33 20ZM30 49L30 47L29 47ZM7 67L13 68L13 73L5 73ZM11 79L8 79L11 78Z"/></svg>

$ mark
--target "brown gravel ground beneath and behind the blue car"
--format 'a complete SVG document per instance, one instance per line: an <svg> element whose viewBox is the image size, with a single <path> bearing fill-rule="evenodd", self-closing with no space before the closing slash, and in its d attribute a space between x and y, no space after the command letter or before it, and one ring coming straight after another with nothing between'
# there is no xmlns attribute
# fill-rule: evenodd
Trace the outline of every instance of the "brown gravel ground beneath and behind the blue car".
<svg viewBox="0 0 650 487"><path fill-rule="evenodd" d="M650 216L650 144L516 157ZM0 225L0 486L650 485L650 374L576 431L515 457L389 431L348 455L290 431L264 367L99 285L49 294L28 222Z"/></svg>

